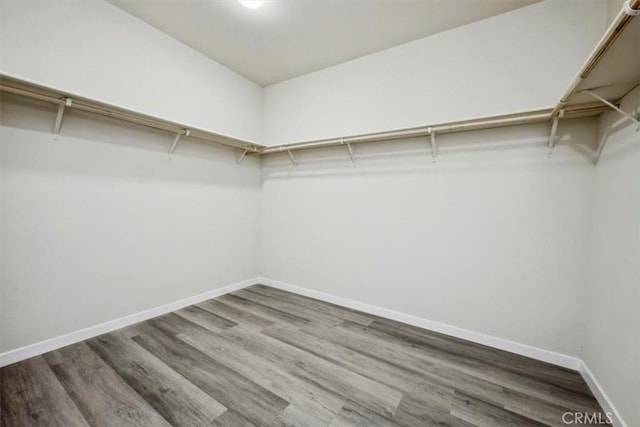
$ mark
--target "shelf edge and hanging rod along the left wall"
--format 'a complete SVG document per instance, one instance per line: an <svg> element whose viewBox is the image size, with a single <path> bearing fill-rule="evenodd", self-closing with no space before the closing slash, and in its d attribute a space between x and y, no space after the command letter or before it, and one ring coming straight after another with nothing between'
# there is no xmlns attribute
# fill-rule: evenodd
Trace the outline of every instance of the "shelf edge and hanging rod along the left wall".
<svg viewBox="0 0 640 427"><path fill-rule="evenodd" d="M79 99L75 97L64 96L59 93L54 93L48 90L32 89L31 87L18 87L26 86L23 83L12 84L7 83L4 79L0 80L0 91L14 95L20 95L38 101L49 102L51 104L58 105L58 116L56 117L56 123L54 131L58 133L60 131L60 125L62 123L62 116L66 108L75 108L77 110L86 111L101 116L110 117L113 119L122 120L129 123L135 123L138 125L146 126L153 129L158 129L178 135L187 135L192 138L197 138L203 141L213 142L216 144L224 145L227 147L240 148L247 150L247 152L259 152L263 145L254 144L248 141L240 139L214 134L200 129L193 129L188 126L179 125L177 123L168 122L161 119L145 116L139 113L131 113L125 110L100 104L98 102L89 101L86 99ZM175 148L175 147L173 147Z"/></svg>

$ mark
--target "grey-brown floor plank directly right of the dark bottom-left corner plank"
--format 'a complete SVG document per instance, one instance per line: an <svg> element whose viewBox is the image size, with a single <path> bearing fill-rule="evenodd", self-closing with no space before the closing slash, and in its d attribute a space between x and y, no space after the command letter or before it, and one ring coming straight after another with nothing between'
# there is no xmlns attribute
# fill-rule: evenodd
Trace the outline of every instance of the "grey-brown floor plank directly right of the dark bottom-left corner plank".
<svg viewBox="0 0 640 427"><path fill-rule="evenodd" d="M44 359L90 425L170 425L85 342Z"/></svg>

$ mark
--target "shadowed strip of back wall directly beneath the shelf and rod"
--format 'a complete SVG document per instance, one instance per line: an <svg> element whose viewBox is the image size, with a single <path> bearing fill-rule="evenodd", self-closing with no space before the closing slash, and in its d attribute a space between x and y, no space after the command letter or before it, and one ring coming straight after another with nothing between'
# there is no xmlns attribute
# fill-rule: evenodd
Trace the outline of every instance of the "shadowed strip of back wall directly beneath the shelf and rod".
<svg viewBox="0 0 640 427"><path fill-rule="evenodd" d="M436 137L436 158L427 136L352 144L355 163L351 162L346 146L294 151L297 166L284 152L264 158L263 177L460 173L593 164L597 125L596 118L562 122L558 130L560 139L551 153L547 148L550 132L547 123L440 135Z"/></svg>

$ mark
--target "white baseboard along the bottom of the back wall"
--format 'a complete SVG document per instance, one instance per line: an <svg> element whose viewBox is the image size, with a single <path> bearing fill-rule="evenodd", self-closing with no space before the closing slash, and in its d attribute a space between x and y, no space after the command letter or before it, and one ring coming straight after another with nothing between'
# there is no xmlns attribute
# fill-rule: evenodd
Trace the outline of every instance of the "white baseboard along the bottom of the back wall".
<svg viewBox="0 0 640 427"><path fill-rule="evenodd" d="M418 326L420 328L429 329L431 331L440 332L456 338L461 338L467 341L472 341L478 344L486 345L486 346L497 348L500 350L509 351L511 353L530 357L532 359L552 363L554 365L562 366L568 369L573 369L574 371L577 371L580 368L581 360L566 354L544 350L542 348L505 340L505 339L494 337L491 335L485 335L480 332L458 328L456 326L447 325L445 323L423 319L421 317L412 316L410 314L400 313L394 310L389 310L387 308L382 308L382 307L377 307L370 304L361 303L358 301L350 300L348 298L338 297L335 295L326 294L324 292L314 291L314 290L303 288L300 286L291 285L289 283L283 283L277 280L267 279L265 277L259 277L258 279L262 284L265 284L267 286L272 286L274 288L282 289L284 291L289 291L289 292L304 295L307 297L319 299L321 301L342 305L344 307L352 308L354 310L364 311L365 313L373 314L375 316L396 320L398 322L403 322L409 325Z"/></svg>

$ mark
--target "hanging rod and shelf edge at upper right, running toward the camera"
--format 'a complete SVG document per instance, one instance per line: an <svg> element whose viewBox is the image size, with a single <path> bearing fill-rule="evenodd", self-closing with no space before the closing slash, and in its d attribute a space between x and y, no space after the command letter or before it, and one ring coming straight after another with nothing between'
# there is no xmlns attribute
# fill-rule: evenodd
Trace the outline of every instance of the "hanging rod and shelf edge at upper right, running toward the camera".
<svg viewBox="0 0 640 427"><path fill-rule="evenodd" d="M576 89L584 79L586 79L589 74L593 71L596 65L600 62L602 57L607 53L609 48L616 41L618 36L622 33L622 31L626 28L626 26L631 22L631 20L640 14L640 0L627 0L624 3L624 6L613 20L607 31L604 33L598 44L596 45L589 58L584 63L578 75L573 79L569 89L565 92L565 94L560 98L560 102L556 105L551 112L551 117L556 117L560 114L560 110L562 110L569 102L569 98L575 93Z"/></svg>

